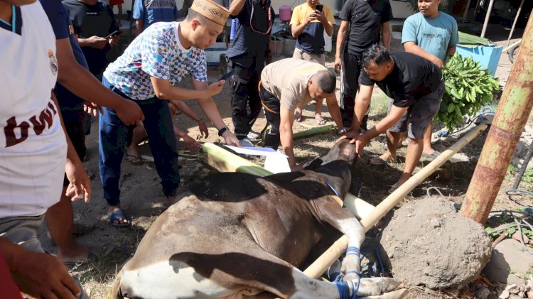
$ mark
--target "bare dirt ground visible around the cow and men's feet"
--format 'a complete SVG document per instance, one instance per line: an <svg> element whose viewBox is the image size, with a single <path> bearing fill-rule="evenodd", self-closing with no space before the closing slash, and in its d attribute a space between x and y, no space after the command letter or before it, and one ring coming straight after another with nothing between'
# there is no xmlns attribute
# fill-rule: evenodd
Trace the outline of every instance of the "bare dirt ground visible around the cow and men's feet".
<svg viewBox="0 0 533 299"><path fill-rule="evenodd" d="M329 67L333 67L331 57L328 58ZM209 79L210 82L220 77L222 70L218 67L210 67ZM184 86L190 86L185 84ZM384 98L384 94L375 89L375 99ZM337 94L339 91L337 91ZM225 120L225 123L232 129L231 111L230 111L230 88L226 85L222 93L214 97L217 107ZM383 101L382 101L383 102ZM195 112L198 112L200 117L205 119L205 116L200 112L200 108L195 101L188 102ZM384 116L384 104L377 105L379 107L372 107L370 124L372 126L376 121ZM314 104L311 104L307 109L303 110L303 121L300 124L295 124L295 131L308 129L315 126L313 119ZM327 107L323 107L323 116L328 120L328 124L333 124L333 120L328 114ZM261 131L265 124L264 116L261 114L254 124L254 131ZM175 119L181 129L188 132L190 136L196 137L199 135L198 127L195 121L188 119L183 114L178 115ZM209 124L210 125L210 124ZM468 130L466 130L468 131ZM421 200L426 197L426 192L429 187L438 187L446 199L461 204L463 196L468 188L468 183L475 169L477 158L480 155L481 148L485 141L486 130L483 134L478 136L473 142L465 146L461 153L463 156L468 156L469 161L453 159L444 164L441 169L437 170L434 175L424 180L418 187L399 203L399 206L406 202L413 202ZM338 138L334 132L322 134L320 136L313 136L311 138L303 138L295 142L296 160L298 163L303 163L311 160L316 156L323 155L328 151L331 144ZM457 136L446 138L438 138L435 140L435 148L443 150L451 146L457 140ZM221 138L217 136L215 128L210 126L210 135L208 138L200 139L202 142L220 142ZM90 293L92 298L104 298L107 290L121 268L122 264L131 257L136 249L137 244L141 241L147 229L154 222L156 217L163 212L163 193L158 183L158 175L154 167L154 163L144 161L142 165L132 165L129 161L124 159L122 163L122 177L120 180L120 187L122 190L121 200L122 207L133 219L133 225L129 228L112 227L107 219L107 205L102 197L102 186L99 180L98 170L98 151L97 151L97 120L92 124L92 133L87 136L87 161L85 167L97 177L92 180L92 201L85 205L82 202L75 202L75 222L82 224L95 224L96 229L90 234L78 237L77 241L80 244L94 246L95 249L109 249L113 250L104 256L99 256L97 259L90 261L84 265L78 265L70 268L72 275L80 280L82 286L87 293ZM404 167L403 161L405 157L405 147L399 149L399 162L389 163L386 166L376 167L370 164L370 158L375 155L384 153L385 149L384 137L379 136L370 142L365 148L365 152L357 161L358 177L361 181L361 189L359 196L370 202L372 205L378 205L389 193L387 190L396 182ZM179 143L183 148L183 142ZM149 146L144 144L141 146L141 153L146 156L151 156ZM195 156L182 156L181 163L181 190L183 190L192 180L198 180L210 170L206 165L203 165ZM421 160L415 172L427 165L429 161ZM495 208L498 209L516 209L520 206L529 205L529 200L526 197L515 196L513 198L505 195L510 185L512 185L512 176L508 175L502 186L502 191L498 195L495 202ZM179 193L179 191L178 191ZM45 234L41 234L41 240L50 252L55 252L56 248ZM106 251L106 250L104 250ZM461 286L462 290L447 291L433 291L426 288L410 287L411 294L409 298L475 298L471 296L475 294L477 285Z"/></svg>

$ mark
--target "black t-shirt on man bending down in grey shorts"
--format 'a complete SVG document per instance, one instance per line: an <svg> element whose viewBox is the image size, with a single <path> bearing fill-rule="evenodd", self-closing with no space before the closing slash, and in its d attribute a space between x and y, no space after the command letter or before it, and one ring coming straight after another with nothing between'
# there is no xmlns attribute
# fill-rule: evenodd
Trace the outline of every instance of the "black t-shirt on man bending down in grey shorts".
<svg viewBox="0 0 533 299"><path fill-rule="evenodd" d="M368 77L365 69L361 71L359 84L373 86L374 83L387 96L394 99L394 106L409 107L441 84L442 72L433 62L419 55L407 52L391 52L394 69L381 82Z"/></svg>

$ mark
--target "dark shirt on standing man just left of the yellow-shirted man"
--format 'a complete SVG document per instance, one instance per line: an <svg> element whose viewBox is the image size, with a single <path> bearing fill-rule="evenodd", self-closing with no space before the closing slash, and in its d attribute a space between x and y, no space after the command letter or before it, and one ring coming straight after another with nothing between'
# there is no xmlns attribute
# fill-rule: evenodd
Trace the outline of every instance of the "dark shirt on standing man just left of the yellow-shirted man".
<svg viewBox="0 0 533 299"><path fill-rule="evenodd" d="M253 11L252 11L253 9ZM228 58L262 58L269 48L269 37L274 24L274 9L271 1L246 0L237 16L235 39L227 48ZM252 24L252 27L250 27Z"/></svg>

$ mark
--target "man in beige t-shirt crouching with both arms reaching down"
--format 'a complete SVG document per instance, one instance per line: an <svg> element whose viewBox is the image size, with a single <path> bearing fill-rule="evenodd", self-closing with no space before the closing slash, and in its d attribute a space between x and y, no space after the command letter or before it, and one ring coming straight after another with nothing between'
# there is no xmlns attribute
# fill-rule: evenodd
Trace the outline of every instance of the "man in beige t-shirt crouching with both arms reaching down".
<svg viewBox="0 0 533 299"><path fill-rule="evenodd" d="M323 65L306 60L287 58L264 67L259 82L259 97L264 108L266 127L262 131L264 146L278 148L280 142L289 157L291 170L303 170L296 164L293 151L294 110L311 100L325 98L328 110L339 128L343 128L335 96L337 79Z"/></svg>

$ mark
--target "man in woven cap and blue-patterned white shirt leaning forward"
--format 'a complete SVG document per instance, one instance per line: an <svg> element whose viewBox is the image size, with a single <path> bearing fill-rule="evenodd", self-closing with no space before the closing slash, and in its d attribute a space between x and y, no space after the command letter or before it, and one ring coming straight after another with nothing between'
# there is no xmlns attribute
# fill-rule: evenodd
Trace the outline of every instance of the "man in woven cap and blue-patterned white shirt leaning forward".
<svg viewBox="0 0 533 299"><path fill-rule="evenodd" d="M102 83L141 107L144 129L150 138L154 163L168 205L176 195L180 176L176 136L168 102L198 99L205 115L229 144L239 141L225 126L212 96L224 81L208 85L203 49L215 43L230 12L210 0L195 0L182 22L158 22L146 28L104 72ZM178 87L183 77L193 79L194 89ZM120 206L120 165L128 131L114 110L104 108L99 118L99 169L109 221L115 227L131 225Z"/></svg>

